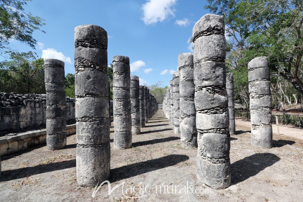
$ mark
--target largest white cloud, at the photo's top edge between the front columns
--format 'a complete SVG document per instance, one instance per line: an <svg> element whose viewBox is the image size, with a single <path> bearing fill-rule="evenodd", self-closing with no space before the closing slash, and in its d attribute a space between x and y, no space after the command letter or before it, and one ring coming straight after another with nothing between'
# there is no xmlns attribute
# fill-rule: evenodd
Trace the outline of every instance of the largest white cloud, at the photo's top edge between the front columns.
<svg viewBox="0 0 303 202"><path fill-rule="evenodd" d="M175 16L173 6L176 2L177 0L148 0L142 5L143 22L152 25L164 21L169 15Z"/></svg>

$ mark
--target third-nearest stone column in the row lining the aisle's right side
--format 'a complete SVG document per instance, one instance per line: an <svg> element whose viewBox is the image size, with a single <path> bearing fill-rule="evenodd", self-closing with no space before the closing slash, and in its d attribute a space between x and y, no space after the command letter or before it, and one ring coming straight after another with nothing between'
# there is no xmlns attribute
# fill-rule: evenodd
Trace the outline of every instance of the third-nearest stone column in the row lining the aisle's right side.
<svg viewBox="0 0 303 202"><path fill-rule="evenodd" d="M173 94L174 94L174 129L175 134L180 134L180 93L179 93L179 71L173 73Z"/></svg>

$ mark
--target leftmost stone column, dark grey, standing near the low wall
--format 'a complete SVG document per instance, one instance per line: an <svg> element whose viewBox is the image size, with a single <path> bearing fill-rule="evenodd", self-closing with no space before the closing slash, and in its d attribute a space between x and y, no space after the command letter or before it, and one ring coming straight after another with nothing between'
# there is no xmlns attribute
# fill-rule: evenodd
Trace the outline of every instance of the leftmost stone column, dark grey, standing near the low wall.
<svg viewBox="0 0 303 202"><path fill-rule="evenodd" d="M46 90L46 146L48 150L66 145L66 101L64 62L44 59Z"/></svg>

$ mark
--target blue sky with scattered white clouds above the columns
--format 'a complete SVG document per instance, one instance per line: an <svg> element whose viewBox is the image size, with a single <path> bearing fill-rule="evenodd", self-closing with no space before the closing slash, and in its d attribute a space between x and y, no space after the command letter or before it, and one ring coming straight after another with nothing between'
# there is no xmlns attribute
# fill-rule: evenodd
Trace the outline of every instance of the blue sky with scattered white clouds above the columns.
<svg viewBox="0 0 303 202"><path fill-rule="evenodd" d="M201 0L33 0L25 6L45 19L43 30L35 31L39 57L65 61L65 74L74 74L74 28L95 24L108 33L108 64L115 55L130 58L132 75L140 84L164 81L177 70L178 54L190 52L188 39L195 22L208 13ZM33 51L12 41L19 52Z"/></svg>

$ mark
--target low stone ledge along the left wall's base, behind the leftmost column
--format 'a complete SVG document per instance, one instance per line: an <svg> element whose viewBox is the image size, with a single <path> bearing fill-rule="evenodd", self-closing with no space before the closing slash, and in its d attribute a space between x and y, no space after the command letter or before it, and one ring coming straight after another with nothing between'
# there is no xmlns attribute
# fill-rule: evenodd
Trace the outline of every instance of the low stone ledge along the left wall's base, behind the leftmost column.
<svg viewBox="0 0 303 202"><path fill-rule="evenodd" d="M67 125L67 135L76 133L76 124ZM46 129L0 137L0 156L12 154L39 144L46 144Z"/></svg>

